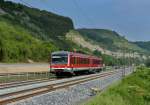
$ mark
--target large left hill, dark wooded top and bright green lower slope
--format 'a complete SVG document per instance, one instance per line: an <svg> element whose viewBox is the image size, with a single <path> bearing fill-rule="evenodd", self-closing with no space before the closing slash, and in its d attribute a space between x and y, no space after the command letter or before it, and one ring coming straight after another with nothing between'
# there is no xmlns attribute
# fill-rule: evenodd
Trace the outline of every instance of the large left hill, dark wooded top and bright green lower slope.
<svg viewBox="0 0 150 105"><path fill-rule="evenodd" d="M51 51L68 50L70 18L0 0L0 62L48 60Z"/></svg>

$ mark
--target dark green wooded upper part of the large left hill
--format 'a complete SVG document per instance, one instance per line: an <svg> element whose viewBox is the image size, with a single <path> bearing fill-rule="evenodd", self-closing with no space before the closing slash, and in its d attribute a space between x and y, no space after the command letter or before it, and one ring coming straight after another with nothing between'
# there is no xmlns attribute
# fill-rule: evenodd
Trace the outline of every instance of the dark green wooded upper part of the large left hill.
<svg viewBox="0 0 150 105"><path fill-rule="evenodd" d="M12 24L20 25L27 29L35 38L44 41L53 41L56 46L62 48L65 34L74 29L70 18L60 16L45 10L29 8L11 1L0 1L0 7L7 13L4 17ZM68 47L68 46L67 46ZM66 48L64 46L63 48Z"/></svg>

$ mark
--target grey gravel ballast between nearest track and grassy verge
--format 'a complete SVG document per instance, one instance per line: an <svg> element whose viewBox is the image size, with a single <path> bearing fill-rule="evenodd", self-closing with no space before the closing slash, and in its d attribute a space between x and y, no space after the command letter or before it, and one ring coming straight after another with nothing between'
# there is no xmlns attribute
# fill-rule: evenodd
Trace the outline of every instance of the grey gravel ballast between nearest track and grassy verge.
<svg viewBox="0 0 150 105"><path fill-rule="evenodd" d="M132 71L133 68L126 68L125 73L129 75ZM57 89L56 91L23 99L9 105L75 105L95 96L94 89L99 89L100 91L106 89L106 87L123 77L123 70L120 69L111 75Z"/></svg>

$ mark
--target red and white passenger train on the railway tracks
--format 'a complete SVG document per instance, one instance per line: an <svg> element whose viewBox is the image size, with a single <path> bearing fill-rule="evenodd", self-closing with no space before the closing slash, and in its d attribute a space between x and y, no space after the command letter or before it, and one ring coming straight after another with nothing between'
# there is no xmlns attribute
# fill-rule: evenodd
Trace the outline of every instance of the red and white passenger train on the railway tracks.
<svg viewBox="0 0 150 105"><path fill-rule="evenodd" d="M77 74L79 72L101 71L104 67L101 58L68 51L51 54L50 72L56 75L62 73Z"/></svg>

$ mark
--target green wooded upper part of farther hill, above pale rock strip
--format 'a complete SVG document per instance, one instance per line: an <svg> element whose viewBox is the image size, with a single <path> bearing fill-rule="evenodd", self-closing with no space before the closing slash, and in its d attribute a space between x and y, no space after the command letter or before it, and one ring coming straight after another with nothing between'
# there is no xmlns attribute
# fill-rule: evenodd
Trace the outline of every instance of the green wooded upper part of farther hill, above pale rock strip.
<svg viewBox="0 0 150 105"><path fill-rule="evenodd" d="M87 41L92 41L94 44L100 45L102 48L118 51L126 48L128 51L143 52L143 49L137 45L130 43L123 36L120 36L117 32L106 29L78 29L80 35L82 35Z"/></svg>

